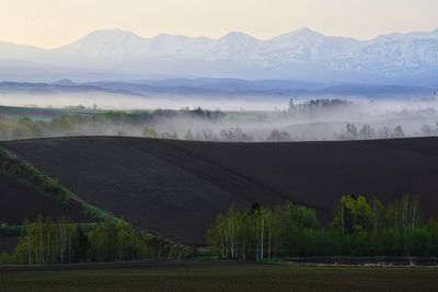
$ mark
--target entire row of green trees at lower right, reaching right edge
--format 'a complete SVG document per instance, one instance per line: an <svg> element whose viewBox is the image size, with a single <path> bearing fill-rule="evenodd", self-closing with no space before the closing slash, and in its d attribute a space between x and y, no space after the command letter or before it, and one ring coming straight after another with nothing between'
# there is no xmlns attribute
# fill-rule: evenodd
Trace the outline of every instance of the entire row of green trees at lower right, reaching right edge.
<svg viewBox="0 0 438 292"><path fill-rule="evenodd" d="M306 256L438 256L438 221L422 220L417 198L405 195L383 206L362 196L341 198L328 226L313 209L286 203L230 208L206 234L223 258L262 260Z"/></svg>

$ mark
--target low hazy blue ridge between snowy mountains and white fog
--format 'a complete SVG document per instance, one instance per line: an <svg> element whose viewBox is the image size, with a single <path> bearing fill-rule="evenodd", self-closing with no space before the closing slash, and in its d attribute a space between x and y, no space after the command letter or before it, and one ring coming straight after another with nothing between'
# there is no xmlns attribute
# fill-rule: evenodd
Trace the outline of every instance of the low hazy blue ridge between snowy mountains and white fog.
<svg viewBox="0 0 438 292"><path fill-rule="evenodd" d="M51 83L0 82L0 94L89 94L105 93L151 96L191 96L216 97L281 97L324 98L324 97L364 97L364 98L436 98L437 89L380 85L380 84L320 84L293 80L241 80L241 79L169 79L142 81L97 81L77 83L58 80Z"/></svg>

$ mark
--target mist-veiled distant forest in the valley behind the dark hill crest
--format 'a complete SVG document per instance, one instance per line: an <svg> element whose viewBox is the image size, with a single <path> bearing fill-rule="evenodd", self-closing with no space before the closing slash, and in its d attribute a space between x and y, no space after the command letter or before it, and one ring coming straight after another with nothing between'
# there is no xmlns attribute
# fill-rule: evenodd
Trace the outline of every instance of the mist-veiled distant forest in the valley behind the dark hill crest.
<svg viewBox="0 0 438 292"><path fill-rule="evenodd" d="M314 118L320 114L331 113L334 109L344 108L348 112L348 108L354 106L355 104L344 100L311 100L301 104L295 104L293 101L290 101L289 108L286 112L277 113L278 116L275 118L267 119L264 114L260 114L255 119L257 122L266 119L265 121L269 125L276 119L293 121L303 117ZM306 132L298 137L286 129L281 129L281 127L276 129L275 126L264 126L262 122L258 127L270 127L270 129L268 132L264 132L262 137L254 138L245 130L244 122L254 121L245 113L227 114L200 107L194 109L183 108L181 110L113 112L87 109L79 106L67 108L66 110L69 114L44 118L21 116L12 119L8 118L7 115L0 116L0 140L73 136L131 136L194 141L288 142L300 141L306 137ZM238 121L243 121L243 126L237 126L240 125ZM169 125L171 127L168 127ZM337 127L335 131L327 129L327 131L333 132L325 132L325 137L331 140L412 137L412 133L406 133L400 125L373 128L366 122L346 122L345 126ZM435 125L425 124L418 127L415 136L438 136L438 121Z"/></svg>

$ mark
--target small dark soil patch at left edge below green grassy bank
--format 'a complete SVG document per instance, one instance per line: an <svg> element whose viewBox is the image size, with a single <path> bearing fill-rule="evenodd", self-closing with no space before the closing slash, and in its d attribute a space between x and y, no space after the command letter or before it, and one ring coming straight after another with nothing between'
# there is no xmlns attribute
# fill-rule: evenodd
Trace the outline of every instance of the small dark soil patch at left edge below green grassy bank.
<svg viewBox="0 0 438 292"><path fill-rule="evenodd" d="M0 222L20 225L24 220L34 220L38 214L51 217L53 220L65 215L74 222L85 221L78 208L58 202L0 175Z"/></svg>

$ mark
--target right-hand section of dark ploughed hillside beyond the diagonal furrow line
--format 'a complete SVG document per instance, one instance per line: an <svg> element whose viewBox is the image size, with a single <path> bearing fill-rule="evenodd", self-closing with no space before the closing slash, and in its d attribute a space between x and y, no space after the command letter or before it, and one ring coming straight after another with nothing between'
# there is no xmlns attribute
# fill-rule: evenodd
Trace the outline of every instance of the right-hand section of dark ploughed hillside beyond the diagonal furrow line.
<svg viewBox="0 0 438 292"><path fill-rule="evenodd" d="M343 194L384 202L412 194L419 196L425 217L438 214L438 138L170 144L311 206L325 219Z"/></svg>

